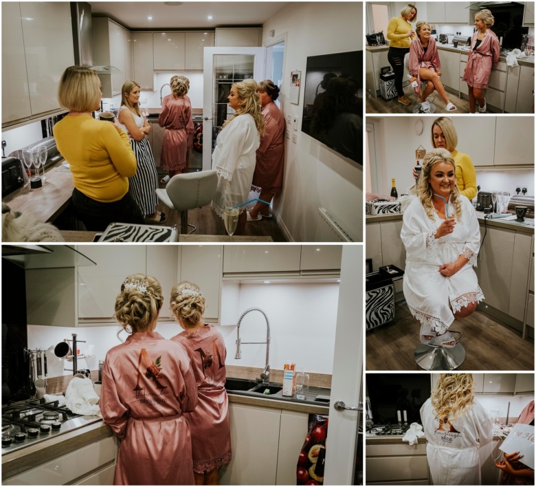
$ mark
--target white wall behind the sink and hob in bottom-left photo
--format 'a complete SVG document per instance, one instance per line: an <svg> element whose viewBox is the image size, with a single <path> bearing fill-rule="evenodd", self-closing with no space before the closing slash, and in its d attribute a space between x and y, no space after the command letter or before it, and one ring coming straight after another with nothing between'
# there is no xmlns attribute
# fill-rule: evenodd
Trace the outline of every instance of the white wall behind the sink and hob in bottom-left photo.
<svg viewBox="0 0 536 487"><path fill-rule="evenodd" d="M271 284L241 285L239 310L260 307L268 316L271 331L270 366L282 369L284 362L292 360L306 371L331 374L335 325L337 323L337 303L339 285L322 284ZM28 347L30 349L49 349L47 355L48 374L51 377L69 375L64 367L72 367L54 356L54 347L65 338L71 340L76 333L81 354L88 351L93 358L78 360L78 369L98 369L98 360L104 359L106 352L119 345L117 326L102 327L50 327L28 325ZM219 328L227 346L227 364L242 367L264 367L265 345L243 345L242 359L234 360L236 326ZM161 322L157 332L164 338L171 338L182 329L176 323ZM122 338L126 334L122 332ZM263 314L251 312L241 324L243 341L261 342L266 339L266 325Z"/></svg>

